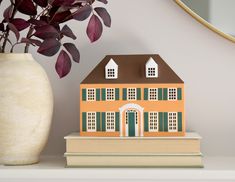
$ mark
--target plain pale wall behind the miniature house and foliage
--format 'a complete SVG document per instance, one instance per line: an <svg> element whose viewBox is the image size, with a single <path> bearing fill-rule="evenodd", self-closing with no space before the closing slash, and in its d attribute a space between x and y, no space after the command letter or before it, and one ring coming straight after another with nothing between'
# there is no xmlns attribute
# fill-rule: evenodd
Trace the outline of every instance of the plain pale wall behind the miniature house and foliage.
<svg viewBox="0 0 235 182"><path fill-rule="evenodd" d="M51 80L55 109L44 154L62 154L63 137L79 126L79 83L106 54L158 53L185 81L187 130L202 137L205 155L234 155L235 44L210 31L173 0L110 0L112 28L90 44L85 24L78 31L81 63L60 80L55 58L35 53ZM2 9L1 9L2 12Z"/></svg>

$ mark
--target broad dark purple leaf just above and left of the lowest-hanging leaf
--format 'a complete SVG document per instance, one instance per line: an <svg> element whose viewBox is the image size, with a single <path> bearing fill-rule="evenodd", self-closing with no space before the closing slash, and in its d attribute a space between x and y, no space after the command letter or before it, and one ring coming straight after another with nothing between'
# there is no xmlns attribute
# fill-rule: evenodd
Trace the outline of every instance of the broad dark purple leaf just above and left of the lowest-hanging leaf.
<svg viewBox="0 0 235 182"><path fill-rule="evenodd" d="M56 39L50 38L43 41L38 48L38 53L45 56L54 56L60 49L60 42Z"/></svg>

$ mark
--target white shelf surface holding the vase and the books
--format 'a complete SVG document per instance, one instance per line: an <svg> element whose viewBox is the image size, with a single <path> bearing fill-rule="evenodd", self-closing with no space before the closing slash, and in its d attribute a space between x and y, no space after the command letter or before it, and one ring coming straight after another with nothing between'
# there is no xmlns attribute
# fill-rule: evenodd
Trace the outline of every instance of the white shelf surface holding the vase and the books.
<svg viewBox="0 0 235 182"><path fill-rule="evenodd" d="M35 165L0 165L0 182L235 180L235 157L204 157L203 162L204 168L65 168L63 157L47 156Z"/></svg>

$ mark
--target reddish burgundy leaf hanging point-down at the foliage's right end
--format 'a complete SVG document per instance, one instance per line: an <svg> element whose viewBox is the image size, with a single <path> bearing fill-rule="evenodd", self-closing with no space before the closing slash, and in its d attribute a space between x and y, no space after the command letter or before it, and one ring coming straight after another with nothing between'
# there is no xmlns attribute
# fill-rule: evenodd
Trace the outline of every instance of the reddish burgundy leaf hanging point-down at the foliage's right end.
<svg viewBox="0 0 235 182"><path fill-rule="evenodd" d="M87 36L91 42L95 42L101 37L103 26L101 21L96 15L92 15L87 26Z"/></svg>

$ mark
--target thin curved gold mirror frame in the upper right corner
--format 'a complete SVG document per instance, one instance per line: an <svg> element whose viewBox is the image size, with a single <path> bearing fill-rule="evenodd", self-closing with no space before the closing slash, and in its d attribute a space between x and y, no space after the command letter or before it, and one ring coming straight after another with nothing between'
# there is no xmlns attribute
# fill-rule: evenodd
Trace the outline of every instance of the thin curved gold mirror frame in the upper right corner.
<svg viewBox="0 0 235 182"><path fill-rule="evenodd" d="M222 37L235 42L235 37L226 34L222 31L220 31L218 28L201 18L198 14L196 14L194 11L192 11L188 6L186 6L181 0L175 0L175 2L183 9L185 10L188 14L190 14L194 19L196 19L198 22L200 22L202 25L205 25L207 28L211 29L215 33L221 35Z"/></svg>

